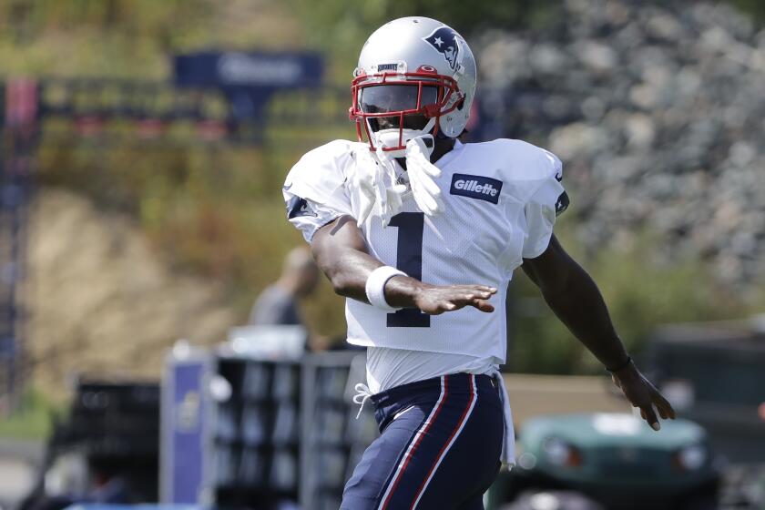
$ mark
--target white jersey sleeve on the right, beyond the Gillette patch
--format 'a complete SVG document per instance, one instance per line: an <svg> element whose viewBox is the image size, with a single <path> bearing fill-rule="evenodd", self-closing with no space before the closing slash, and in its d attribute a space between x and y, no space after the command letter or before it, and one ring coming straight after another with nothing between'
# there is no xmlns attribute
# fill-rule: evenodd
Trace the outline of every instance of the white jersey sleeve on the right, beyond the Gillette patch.
<svg viewBox="0 0 765 510"><path fill-rule="evenodd" d="M563 164L555 154L544 151L549 167L547 177L525 204L526 239L523 258L535 259L550 243L556 217L568 207L568 195L563 188Z"/></svg>

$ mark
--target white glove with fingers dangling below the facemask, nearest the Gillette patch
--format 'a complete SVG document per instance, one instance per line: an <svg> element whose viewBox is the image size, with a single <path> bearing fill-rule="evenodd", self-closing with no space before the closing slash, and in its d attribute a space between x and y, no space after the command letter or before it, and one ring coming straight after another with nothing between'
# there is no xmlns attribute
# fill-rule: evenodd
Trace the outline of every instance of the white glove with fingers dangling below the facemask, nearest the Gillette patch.
<svg viewBox="0 0 765 510"><path fill-rule="evenodd" d="M406 142L406 173L417 207L428 216L433 216L444 210L441 189L434 180L441 177L441 170L430 162L433 149L428 148L424 138L430 138L433 147L432 135L412 138Z"/></svg>

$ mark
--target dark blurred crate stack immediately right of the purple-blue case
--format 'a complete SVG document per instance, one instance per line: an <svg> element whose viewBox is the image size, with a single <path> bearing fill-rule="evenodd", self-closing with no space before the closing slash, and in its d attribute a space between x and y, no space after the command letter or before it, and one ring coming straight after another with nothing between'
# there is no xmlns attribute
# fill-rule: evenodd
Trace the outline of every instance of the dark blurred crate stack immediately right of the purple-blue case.
<svg viewBox="0 0 765 510"><path fill-rule="evenodd" d="M215 411L215 503L296 501L300 363L220 356L217 365L230 396Z"/></svg>

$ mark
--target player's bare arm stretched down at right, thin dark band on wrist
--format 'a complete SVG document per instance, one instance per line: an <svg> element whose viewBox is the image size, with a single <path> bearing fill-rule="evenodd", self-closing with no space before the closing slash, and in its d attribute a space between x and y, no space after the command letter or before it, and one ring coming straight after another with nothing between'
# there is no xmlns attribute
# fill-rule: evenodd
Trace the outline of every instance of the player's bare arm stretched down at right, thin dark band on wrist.
<svg viewBox="0 0 765 510"><path fill-rule="evenodd" d="M637 370L634 362L627 362L627 351L595 281L566 253L555 235L541 255L525 259L522 267L579 342L606 367L618 368L612 372L614 383L655 430L659 425L654 406L662 418L675 418L667 399Z"/></svg>

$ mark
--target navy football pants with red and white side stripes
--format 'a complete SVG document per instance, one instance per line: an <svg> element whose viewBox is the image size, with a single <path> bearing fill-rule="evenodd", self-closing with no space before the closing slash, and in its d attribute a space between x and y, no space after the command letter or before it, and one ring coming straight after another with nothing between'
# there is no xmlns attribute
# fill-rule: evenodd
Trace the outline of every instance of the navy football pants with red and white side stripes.
<svg viewBox="0 0 765 510"><path fill-rule="evenodd" d="M342 510L482 510L499 469L502 405L488 375L456 373L372 396L381 435L342 494Z"/></svg>

